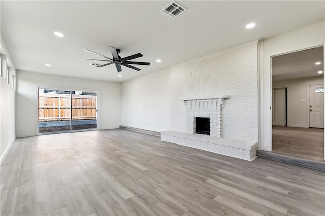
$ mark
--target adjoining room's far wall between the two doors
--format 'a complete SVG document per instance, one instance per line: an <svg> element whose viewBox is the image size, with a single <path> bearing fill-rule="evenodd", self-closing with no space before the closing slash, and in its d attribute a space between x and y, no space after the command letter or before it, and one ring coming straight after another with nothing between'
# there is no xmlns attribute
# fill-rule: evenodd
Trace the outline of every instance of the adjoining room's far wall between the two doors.
<svg viewBox="0 0 325 216"><path fill-rule="evenodd" d="M272 88L287 87L287 115L289 127L309 127L308 86L323 84L323 76L272 82ZM301 101L304 99L305 101Z"/></svg>

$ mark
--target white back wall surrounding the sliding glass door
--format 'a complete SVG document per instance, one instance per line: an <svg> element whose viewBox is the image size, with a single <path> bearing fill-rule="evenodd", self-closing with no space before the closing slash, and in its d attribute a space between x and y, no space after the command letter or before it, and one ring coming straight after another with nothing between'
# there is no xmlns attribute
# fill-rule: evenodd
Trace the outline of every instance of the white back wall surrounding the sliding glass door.
<svg viewBox="0 0 325 216"><path fill-rule="evenodd" d="M37 135L37 87L98 92L100 129L118 128L122 122L122 84L17 70L16 136Z"/></svg>

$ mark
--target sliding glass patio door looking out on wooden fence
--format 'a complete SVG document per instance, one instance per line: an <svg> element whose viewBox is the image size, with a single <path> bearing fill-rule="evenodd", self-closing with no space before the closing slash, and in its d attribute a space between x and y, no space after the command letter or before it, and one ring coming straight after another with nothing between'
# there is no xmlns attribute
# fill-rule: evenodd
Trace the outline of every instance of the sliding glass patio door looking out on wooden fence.
<svg viewBox="0 0 325 216"><path fill-rule="evenodd" d="M38 89L39 134L97 129L97 93Z"/></svg>

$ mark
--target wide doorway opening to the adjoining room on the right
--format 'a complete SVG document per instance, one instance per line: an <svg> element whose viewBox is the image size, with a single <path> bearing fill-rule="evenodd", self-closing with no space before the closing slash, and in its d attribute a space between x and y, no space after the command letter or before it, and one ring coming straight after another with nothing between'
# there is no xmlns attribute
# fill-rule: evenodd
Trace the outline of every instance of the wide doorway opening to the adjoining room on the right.
<svg viewBox="0 0 325 216"><path fill-rule="evenodd" d="M272 57L272 153L324 162L323 53Z"/></svg>

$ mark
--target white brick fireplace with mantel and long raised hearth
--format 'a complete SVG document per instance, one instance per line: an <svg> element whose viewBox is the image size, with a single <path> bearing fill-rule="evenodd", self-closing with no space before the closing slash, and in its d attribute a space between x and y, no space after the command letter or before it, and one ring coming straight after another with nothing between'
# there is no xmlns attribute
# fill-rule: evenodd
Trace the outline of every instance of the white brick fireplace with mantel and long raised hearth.
<svg viewBox="0 0 325 216"><path fill-rule="evenodd" d="M222 109L229 96L184 99L187 132L162 131L161 140L252 161L258 143L222 138ZM209 135L196 133L196 118L209 118Z"/></svg>

